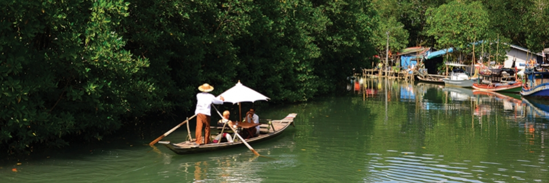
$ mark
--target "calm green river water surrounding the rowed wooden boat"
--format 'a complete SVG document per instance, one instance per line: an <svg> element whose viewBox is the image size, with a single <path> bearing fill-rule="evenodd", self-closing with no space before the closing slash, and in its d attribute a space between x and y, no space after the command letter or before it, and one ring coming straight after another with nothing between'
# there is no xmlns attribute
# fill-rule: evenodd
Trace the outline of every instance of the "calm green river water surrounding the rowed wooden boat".
<svg viewBox="0 0 549 183"><path fill-rule="evenodd" d="M0 180L549 182L549 113L537 101L422 82L361 79L360 84L349 96L259 108L261 119L298 113L295 127L252 144L270 158L254 157L246 147L178 155L146 145L179 123L172 121L143 138L72 143L2 160ZM186 134L183 126L164 140L181 141Z"/></svg>

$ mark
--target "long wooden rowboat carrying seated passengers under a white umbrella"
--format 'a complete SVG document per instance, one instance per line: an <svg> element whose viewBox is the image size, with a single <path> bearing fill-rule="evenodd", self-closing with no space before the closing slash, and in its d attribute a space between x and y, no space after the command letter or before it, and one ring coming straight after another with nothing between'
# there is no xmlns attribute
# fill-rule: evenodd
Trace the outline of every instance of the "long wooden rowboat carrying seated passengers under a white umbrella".
<svg viewBox="0 0 549 183"><path fill-rule="evenodd" d="M293 125L294 118L296 115L298 114L296 113L288 114L288 116L285 117L284 119L271 121L272 125L262 125L259 136L248 138L245 141L248 143L262 142L282 134L282 132L289 125ZM263 128L263 126L265 128ZM267 128L268 126L270 126L270 128ZM221 149L227 149L232 147L244 146L244 143L240 140L238 141L235 140L234 142L209 143L206 145L195 145L193 142L194 141L171 143L170 141L159 141L158 143L163 144L164 146L166 146L171 151L177 154L193 154L193 153L201 153L201 152L210 152L210 151L218 151Z"/></svg>

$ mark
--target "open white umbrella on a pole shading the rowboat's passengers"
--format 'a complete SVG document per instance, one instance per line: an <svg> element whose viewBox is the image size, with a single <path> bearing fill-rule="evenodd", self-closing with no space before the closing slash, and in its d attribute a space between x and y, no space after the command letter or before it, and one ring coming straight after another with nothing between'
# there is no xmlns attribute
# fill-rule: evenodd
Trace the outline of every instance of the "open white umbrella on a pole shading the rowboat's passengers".
<svg viewBox="0 0 549 183"><path fill-rule="evenodd" d="M240 108L240 102L267 101L267 99L270 99L269 97L265 97L261 93L242 85L240 80L236 85L221 93L219 96L223 96L225 102L231 102L233 104L238 103L239 120L242 120L242 109Z"/></svg>

